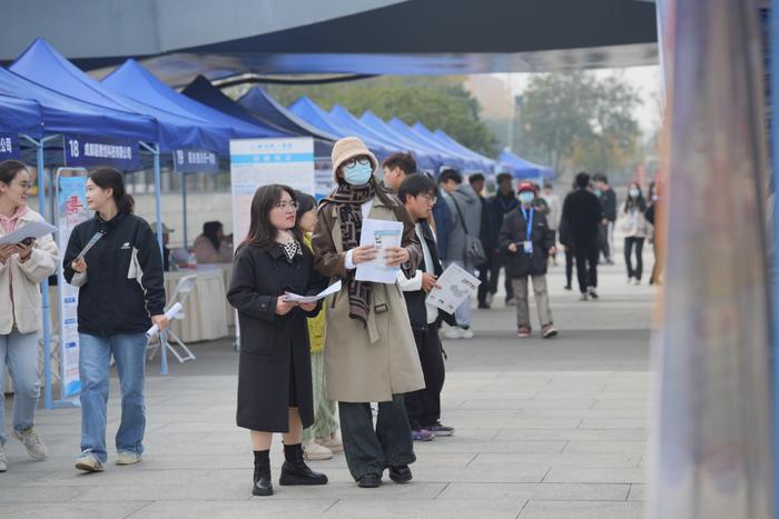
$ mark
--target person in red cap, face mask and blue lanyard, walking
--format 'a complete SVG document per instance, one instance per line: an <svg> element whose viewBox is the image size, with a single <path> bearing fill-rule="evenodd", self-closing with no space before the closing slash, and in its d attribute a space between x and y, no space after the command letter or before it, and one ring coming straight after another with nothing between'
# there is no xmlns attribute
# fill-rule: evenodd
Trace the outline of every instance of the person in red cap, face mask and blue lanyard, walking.
<svg viewBox="0 0 779 519"><path fill-rule="evenodd" d="M546 216L533 207L535 186L522 182L519 193L520 207L505 216L499 237L500 247L506 253L506 276L512 278L516 298L516 335L527 338L532 331L527 298L530 278L539 309L541 337L549 339L558 335L546 291L546 263L549 256L555 252L554 234L546 223Z"/></svg>

